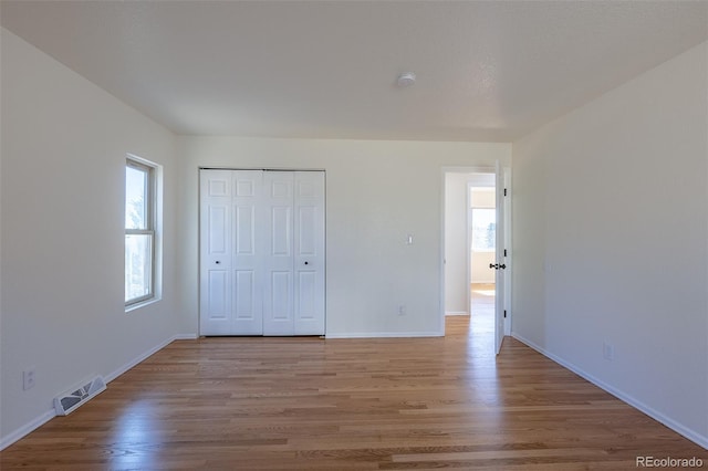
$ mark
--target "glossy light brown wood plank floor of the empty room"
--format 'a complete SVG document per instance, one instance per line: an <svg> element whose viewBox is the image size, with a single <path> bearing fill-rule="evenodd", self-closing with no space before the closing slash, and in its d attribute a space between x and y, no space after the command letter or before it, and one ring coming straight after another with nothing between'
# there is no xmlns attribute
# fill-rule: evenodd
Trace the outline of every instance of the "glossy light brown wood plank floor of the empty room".
<svg viewBox="0 0 708 471"><path fill-rule="evenodd" d="M708 452L514 339L175 342L0 453L7 470L632 470ZM478 342L479 341L479 342Z"/></svg>

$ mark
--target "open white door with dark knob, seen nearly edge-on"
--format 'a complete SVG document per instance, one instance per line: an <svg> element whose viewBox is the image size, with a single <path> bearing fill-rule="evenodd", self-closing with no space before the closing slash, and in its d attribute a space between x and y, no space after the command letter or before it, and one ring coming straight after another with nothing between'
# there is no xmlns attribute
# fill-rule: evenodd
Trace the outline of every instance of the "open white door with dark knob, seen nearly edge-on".
<svg viewBox="0 0 708 471"><path fill-rule="evenodd" d="M494 350L501 350L504 338L504 272L507 268L504 252L504 176L499 160L496 168L497 228L496 228L496 293L494 293Z"/></svg>

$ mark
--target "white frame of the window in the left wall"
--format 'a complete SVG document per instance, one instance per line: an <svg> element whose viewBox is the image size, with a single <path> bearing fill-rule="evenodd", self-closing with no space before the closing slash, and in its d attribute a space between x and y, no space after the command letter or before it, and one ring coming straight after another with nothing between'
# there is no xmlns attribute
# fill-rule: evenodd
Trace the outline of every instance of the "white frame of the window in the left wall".
<svg viewBox="0 0 708 471"><path fill-rule="evenodd" d="M149 292L143 296L133 297L131 300L125 301L126 312L159 300L160 270L158 268L159 268L159 261L160 261L159 255L162 252L160 251L162 243L159 240L160 238L158 237L159 236L158 227L160 221L160 218L158 217L160 213L159 211L159 201L160 201L159 177L162 176L160 167L140 157L128 154L125 161L125 169L127 170L127 168L134 168L140 171L145 171L147 174L147 186L145 189L146 190L145 195L147 200L145 205L145 211L146 211L145 220L147 222L146 224L147 227L144 229L125 228L125 236L136 236L136 234L149 236L152 250L150 250L150 259L149 259L149 264L150 264ZM125 205L125 201L124 201L124 205ZM125 211L124 211L124 214L125 214ZM125 250L127 249L124 248L124 251ZM124 273L124 276L123 276L124 284L125 284L126 276L127 276L127 273ZM124 297L125 297L125 293L124 293Z"/></svg>

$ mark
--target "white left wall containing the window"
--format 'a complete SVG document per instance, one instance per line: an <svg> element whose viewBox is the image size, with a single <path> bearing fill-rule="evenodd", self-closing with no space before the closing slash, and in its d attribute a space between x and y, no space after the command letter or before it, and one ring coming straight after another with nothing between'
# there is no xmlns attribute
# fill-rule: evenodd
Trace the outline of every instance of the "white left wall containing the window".
<svg viewBox="0 0 708 471"><path fill-rule="evenodd" d="M0 448L177 331L174 136L2 30ZM164 299L124 311L125 156L164 166ZM22 390L22 371L37 385Z"/></svg>

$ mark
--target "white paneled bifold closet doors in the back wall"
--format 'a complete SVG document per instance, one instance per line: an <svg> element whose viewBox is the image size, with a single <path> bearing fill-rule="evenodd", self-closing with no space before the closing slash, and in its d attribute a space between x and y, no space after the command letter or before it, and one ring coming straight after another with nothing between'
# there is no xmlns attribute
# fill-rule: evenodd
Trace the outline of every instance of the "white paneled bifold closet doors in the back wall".
<svg viewBox="0 0 708 471"><path fill-rule="evenodd" d="M324 335L324 172L201 170L201 335Z"/></svg>

